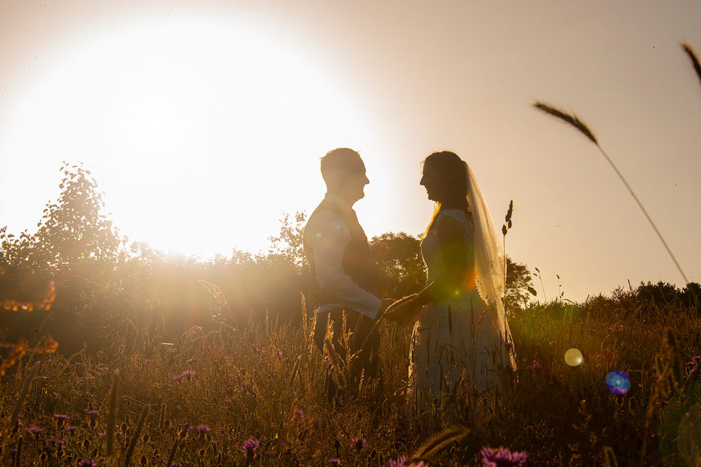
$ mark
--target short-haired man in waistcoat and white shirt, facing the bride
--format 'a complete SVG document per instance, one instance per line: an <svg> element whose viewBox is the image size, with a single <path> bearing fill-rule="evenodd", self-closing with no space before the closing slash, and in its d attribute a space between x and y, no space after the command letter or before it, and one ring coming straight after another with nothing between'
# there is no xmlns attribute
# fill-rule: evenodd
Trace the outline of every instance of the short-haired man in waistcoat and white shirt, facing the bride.
<svg viewBox="0 0 701 467"><path fill-rule="evenodd" d="M321 304L315 310L314 342L325 354L324 338L330 323L331 342L343 363L357 353L348 371L349 392L357 391L361 374L364 385L372 379L381 390L380 333L374 324L392 300L380 298L377 267L353 211L353 204L365 196L363 189L370 181L360 155L348 148L334 149L321 158L321 175L326 196L304 228L304 254ZM346 333L350 333L347 345L343 340L344 318ZM325 390L329 402L339 391L330 368Z"/></svg>

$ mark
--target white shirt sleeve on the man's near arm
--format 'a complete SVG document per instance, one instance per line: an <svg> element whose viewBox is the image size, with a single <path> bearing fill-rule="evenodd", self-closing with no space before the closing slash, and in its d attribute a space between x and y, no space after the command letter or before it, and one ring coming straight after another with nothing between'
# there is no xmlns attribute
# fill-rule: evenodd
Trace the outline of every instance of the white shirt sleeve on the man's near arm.
<svg viewBox="0 0 701 467"><path fill-rule="evenodd" d="M307 235L314 252L317 283L343 307L375 319L382 300L355 284L343 271L343 251L351 242L348 225L332 211L319 211L314 217Z"/></svg>

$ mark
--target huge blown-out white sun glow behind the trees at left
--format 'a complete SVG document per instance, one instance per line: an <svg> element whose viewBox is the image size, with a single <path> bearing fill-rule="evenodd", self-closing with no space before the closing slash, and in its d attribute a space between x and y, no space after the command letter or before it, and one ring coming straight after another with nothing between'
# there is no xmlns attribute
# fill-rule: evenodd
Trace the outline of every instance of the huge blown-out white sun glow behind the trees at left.
<svg viewBox="0 0 701 467"><path fill-rule="evenodd" d="M46 169L55 187L61 160L85 162L115 225L159 249L265 246L283 211L322 195L325 151L372 145L348 90L299 47L250 27L132 22L63 51L8 114L9 172ZM27 211L29 228L46 201L8 210Z"/></svg>

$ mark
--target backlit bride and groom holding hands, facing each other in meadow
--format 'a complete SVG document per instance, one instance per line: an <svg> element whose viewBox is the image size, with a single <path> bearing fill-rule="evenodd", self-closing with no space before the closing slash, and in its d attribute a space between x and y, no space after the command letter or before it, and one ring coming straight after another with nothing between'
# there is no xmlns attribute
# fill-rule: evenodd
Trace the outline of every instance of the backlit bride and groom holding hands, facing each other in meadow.
<svg viewBox="0 0 701 467"><path fill-rule="evenodd" d="M304 229L304 252L322 303L315 310L314 340L333 363L329 400L353 396L362 386L381 392L377 321L388 319L413 329L410 418L442 403L442 393L461 380L477 393L491 391L501 384L501 370L515 368L501 300L505 257L475 176L449 151L429 155L422 172L420 183L436 205L421 240L427 285L413 295L381 298L379 274L353 211L369 183L357 152L338 148L321 159L327 193ZM340 392L336 360L341 370L350 360Z"/></svg>

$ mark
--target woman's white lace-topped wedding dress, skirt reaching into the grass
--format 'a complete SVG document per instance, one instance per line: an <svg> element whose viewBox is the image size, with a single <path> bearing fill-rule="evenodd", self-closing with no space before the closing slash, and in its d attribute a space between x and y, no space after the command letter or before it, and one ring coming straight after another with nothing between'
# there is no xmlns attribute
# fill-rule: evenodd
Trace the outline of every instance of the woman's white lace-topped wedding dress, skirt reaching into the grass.
<svg viewBox="0 0 701 467"><path fill-rule="evenodd" d="M478 394L499 386L500 370L509 361L505 333L496 321L498 314L479 296L475 287L474 229L461 209L440 211L421 242L428 283L445 269L436 228L443 216L456 219L465 228L471 267L468 280L455 295L424 305L414 323L407 390L410 421L421 417L432 403L444 405L442 394L452 393L461 377L463 386L469 384ZM508 330L508 324L503 324Z"/></svg>

